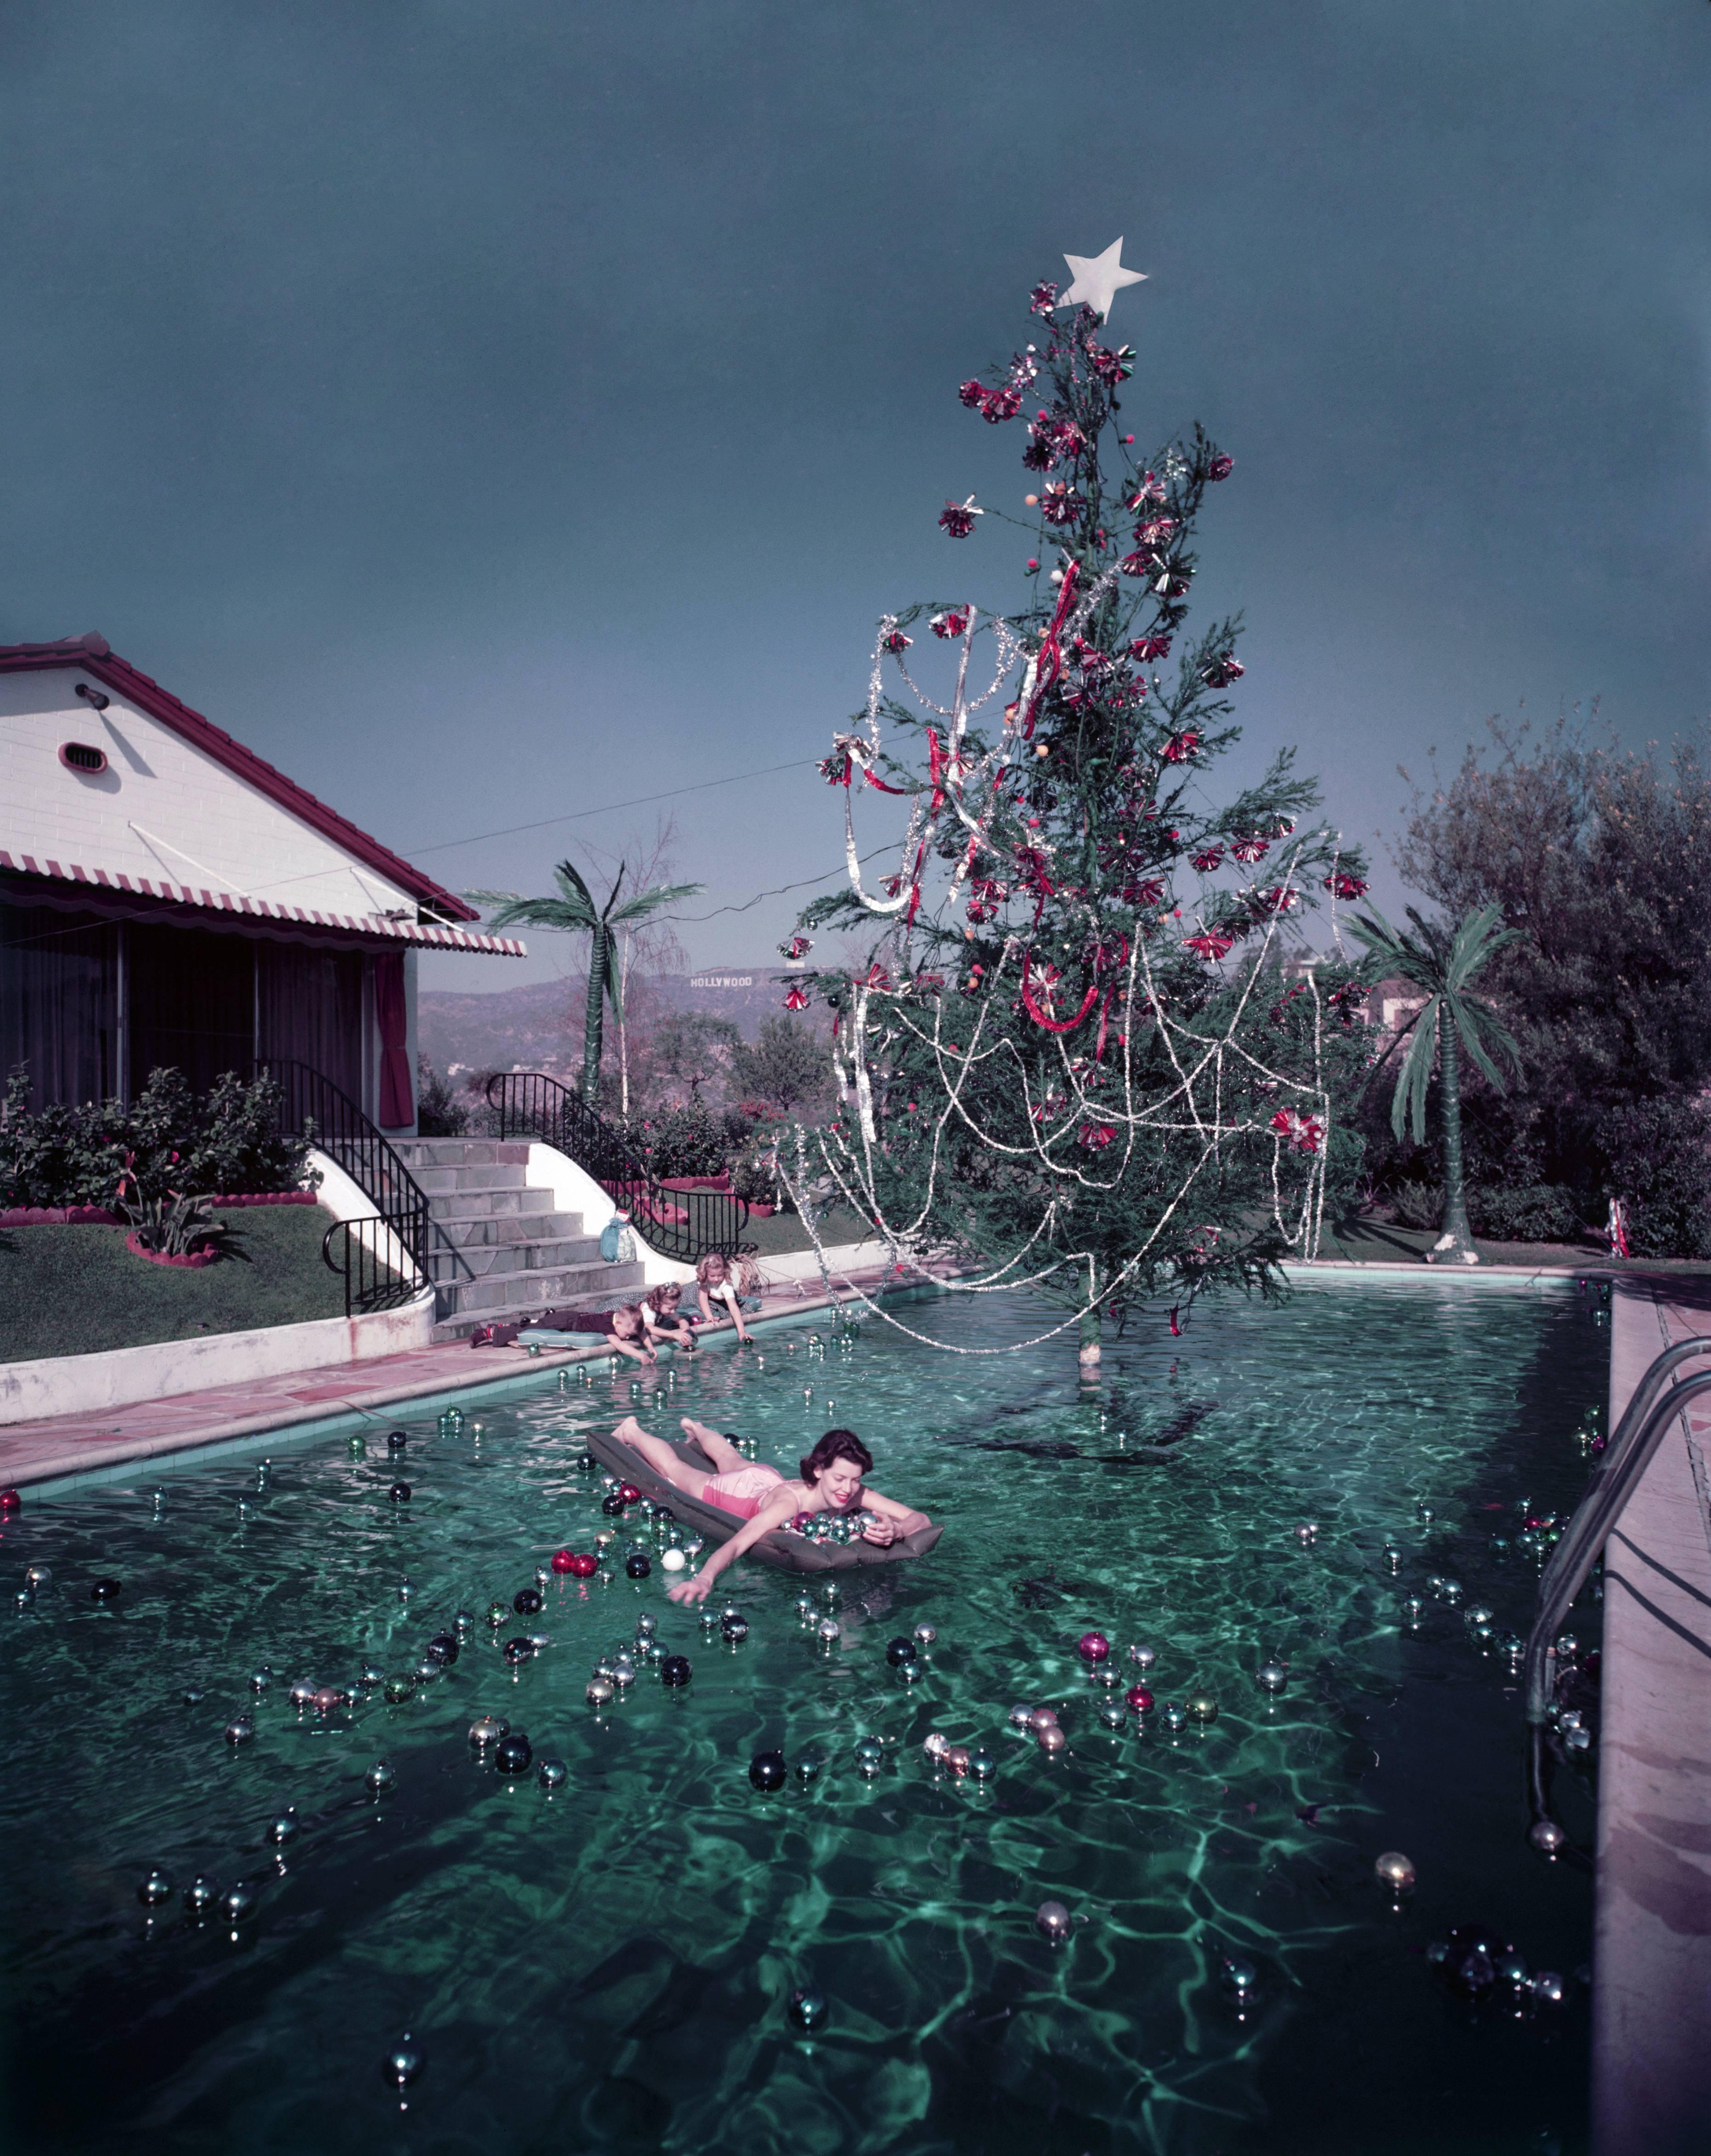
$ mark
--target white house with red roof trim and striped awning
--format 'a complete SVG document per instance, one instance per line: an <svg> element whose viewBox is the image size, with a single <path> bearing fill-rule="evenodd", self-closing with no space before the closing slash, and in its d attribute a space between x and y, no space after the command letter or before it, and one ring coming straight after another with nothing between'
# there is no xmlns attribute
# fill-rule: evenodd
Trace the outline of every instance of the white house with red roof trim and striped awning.
<svg viewBox="0 0 1711 2156"><path fill-rule="evenodd" d="M32 1106L293 1059L416 1130L416 953L524 957L116 658L0 645L0 1072Z"/></svg>

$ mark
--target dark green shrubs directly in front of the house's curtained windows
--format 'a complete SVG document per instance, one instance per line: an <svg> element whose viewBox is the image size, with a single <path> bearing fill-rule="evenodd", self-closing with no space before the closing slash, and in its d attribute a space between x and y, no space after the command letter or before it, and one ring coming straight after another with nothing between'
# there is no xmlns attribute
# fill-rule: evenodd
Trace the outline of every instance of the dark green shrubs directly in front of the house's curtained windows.
<svg viewBox="0 0 1711 2156"><path fill-rule="evenodd" d="M226 1072L196 1102L183 1074L155 1069L129 1104L86 1102L30 1115L28 1078L6 1082L0 1117L0 1205L119 1207L121 1184L151 1203L183 1190L302 1190L308 1145L278 1134L278 1080Z"/></svg>

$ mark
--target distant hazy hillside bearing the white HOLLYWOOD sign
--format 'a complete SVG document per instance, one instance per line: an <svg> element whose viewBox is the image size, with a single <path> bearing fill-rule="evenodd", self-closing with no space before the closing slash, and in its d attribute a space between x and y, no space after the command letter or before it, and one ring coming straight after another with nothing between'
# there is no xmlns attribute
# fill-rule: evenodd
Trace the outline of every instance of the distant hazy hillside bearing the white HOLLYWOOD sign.
<svg viewBox="0 0 1711 2156"><path fill-rule="evenodd" d="M780 1009L778 970L662 972L631 983L629 1005L640 1024L657 1011L711 1011L754 1039L761 1020ZM582 1056L586 977L500 987L485 996L425 990L418 1003L422 1054L442 1074L463 1069L569 1069ZM461 1072L459 1072L461 1076Z"/></svg>

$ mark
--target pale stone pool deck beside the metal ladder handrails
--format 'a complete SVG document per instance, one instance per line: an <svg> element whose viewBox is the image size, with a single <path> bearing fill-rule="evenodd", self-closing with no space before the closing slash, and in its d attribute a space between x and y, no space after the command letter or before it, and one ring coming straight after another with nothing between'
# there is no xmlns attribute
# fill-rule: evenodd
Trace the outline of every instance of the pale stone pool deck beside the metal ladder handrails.
<svg viewBox="0 0 1711 2156"><path fill-rule="evenodd" d="M1618 1279L1610 1427L1711 1332L1705 1279ZM1683 1423L1687 1427L1683 1427ZM1666 1434L1603 1552L1595 2156L1711 2147L1711 1399Z"/></svg>

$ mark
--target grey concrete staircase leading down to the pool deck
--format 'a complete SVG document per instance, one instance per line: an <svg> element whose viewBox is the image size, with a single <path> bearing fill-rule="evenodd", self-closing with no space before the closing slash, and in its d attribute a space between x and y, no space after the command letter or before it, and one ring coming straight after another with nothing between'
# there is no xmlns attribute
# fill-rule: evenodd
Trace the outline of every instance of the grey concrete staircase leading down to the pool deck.
<svg viewBox="0 0 1711 2156"><path fill-rule="evenodd" d="M397 1149L440 1233L474 1274L440 1255L435 1341L461 1341L476 1326L565 1304L610 1309L640 1294L640 1263L608 1266L599 1238L584 1233L582 1214L554 1212L552 1192L530 1188L528 1145L403 1138Z"/></svg>

